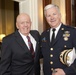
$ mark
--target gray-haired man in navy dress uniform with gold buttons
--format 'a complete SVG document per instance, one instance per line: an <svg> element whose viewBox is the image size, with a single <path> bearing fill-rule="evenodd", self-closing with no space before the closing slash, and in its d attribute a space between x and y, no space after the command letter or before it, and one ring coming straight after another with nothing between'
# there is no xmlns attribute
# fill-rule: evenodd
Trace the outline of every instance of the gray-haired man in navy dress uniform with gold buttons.
<svg viewBox="0 0 76 75"><path fill-rule="evenodd" d="M61 13L57 5L45 6L44 15L50 25L50 28L41 34L44 75L76 75L76 59L74 58L69 65L65 62L70 57L64 55L73 48L76 49L76 29L61 22Z"/></svg>

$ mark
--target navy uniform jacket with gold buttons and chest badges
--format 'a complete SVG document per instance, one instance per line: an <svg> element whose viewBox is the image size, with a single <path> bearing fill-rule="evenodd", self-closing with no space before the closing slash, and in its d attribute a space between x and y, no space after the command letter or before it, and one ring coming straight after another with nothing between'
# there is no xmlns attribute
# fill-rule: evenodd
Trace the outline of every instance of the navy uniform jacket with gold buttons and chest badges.
<svg viewBox="0 0 76 75"><path fill-rule="evenodd" d="M70 35L65 39L63 35ZM54 43L50 43L50 29L41 35L41 54L43 56L44 75L52 75L52 70L62 68L66 75L76 75L76 60L70 66L66 66L60 61L60 53L66 49L76 48L76 29L61 25Z"/></svg>

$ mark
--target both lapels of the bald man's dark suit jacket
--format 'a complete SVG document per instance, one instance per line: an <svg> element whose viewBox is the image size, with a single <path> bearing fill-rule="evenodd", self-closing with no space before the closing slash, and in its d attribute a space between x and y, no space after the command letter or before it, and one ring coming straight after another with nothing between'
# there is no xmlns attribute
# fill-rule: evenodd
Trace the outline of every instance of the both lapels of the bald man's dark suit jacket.
<svg viewBox="0 0 76 75"><path fill-rule="evenodd" d="M39 38L37 35L35 35L32 31L30 32L30 34L32 35L32 37L36 40L36 50L35 50L35 54L37 54L38 51L38 46L39 46ZM30 54L31 52L29 51L27 45L25 44L24 40L22 39L21 35L19 34L18 31L15 32L15 39L17 41L17 43L25 50L28 51Z"/></svg>

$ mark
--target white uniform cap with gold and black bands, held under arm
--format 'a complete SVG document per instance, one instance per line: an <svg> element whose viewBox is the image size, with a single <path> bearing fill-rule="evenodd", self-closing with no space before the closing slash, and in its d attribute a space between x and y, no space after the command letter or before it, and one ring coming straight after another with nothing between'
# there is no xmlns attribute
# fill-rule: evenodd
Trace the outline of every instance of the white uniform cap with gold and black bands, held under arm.
<svg viewBox="0 0 76 75"><path fill-rule="evenodd" d="M70 66L75 59L76 59L75 48L63 50L60 54L60 61L67 66Z"/></svg>

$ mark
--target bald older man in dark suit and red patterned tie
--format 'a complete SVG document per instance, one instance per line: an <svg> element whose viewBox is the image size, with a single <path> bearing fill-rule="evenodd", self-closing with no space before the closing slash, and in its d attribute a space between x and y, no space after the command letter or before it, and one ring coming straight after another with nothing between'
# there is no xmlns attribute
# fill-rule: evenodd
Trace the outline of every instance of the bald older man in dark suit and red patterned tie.
<svg viewBox="0 0 76 75"><path fill-rule="evenodd" d="M16 27L18 30L2 41L0 75L40 75L40 35L31 30L31 20L26 13L18 15Z"/></svg>

